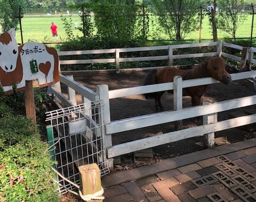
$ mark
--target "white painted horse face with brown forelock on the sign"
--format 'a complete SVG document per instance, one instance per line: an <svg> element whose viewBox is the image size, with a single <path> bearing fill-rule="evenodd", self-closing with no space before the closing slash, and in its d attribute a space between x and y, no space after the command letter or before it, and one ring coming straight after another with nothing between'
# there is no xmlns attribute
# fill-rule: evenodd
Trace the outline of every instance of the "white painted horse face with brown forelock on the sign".
<svg viewBox="0 0 256 202"><path fill-rule="evenodd" d="M0 35L0 68L5 72L12 72L16 68L18 45L14 28Z"/></svg>

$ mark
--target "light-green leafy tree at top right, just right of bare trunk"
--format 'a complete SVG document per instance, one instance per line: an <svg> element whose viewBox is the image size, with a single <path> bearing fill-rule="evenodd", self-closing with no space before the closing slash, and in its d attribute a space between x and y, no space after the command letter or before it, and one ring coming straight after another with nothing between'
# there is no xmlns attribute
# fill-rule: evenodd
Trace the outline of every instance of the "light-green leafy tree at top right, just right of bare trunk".
<svg viewBox="0 0 256 202"><path fill-rule="evenodd" d="M218 28L236 38L236 30L243 23L246 15L242 11L244 0L218 1Z"/></svg>

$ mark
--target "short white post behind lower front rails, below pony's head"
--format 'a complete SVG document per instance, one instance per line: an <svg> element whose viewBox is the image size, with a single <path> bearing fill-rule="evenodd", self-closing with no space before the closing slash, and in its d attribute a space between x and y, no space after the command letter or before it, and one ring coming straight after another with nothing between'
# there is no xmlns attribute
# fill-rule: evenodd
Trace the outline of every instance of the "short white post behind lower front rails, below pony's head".
<svg viewBox="0 0 256 202"><path fill-rule="evenodd" d="M203 105L209 105L209 102L203 102ZM218 114L213 113L213 114L207 114L203 116L203 124L209 124L209 123L217 123L218 122ZM204 140L205 140L205 145L208 148L214 147L214 132L204 134Z"/></svg>

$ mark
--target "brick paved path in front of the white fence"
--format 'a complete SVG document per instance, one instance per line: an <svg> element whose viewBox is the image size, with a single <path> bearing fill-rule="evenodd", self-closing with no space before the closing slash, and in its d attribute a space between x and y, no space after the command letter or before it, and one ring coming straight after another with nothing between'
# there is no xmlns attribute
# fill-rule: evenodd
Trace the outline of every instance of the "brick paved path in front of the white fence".
<svg viewBox="0 0 256 202"><path fill-rule="evenodd" d="M104 202L256 201L256 140L108 175L102 186Z"/></svg>

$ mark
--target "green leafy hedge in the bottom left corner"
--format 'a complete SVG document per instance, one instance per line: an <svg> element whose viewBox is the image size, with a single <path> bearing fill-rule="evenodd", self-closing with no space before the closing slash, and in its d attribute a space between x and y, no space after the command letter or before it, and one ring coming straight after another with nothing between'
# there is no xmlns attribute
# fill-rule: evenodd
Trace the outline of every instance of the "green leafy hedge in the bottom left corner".
<svg viewBox="0 0 256 202"><path fill-rule="evenodd" d="M38 129L1 100L0 201L58 201L48 145Z"/></svg>

